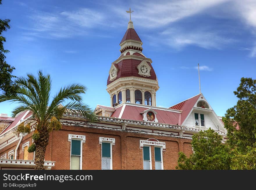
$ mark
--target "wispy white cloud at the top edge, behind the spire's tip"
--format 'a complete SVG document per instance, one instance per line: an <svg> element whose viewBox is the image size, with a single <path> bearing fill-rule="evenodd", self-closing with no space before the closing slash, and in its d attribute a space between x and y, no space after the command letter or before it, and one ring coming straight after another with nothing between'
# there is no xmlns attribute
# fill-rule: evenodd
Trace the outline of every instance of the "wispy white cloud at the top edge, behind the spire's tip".
<svg viewBox="0 0 256 190"><path fill-rule="evenodd" d="M132 9L136 11L136 14L132 14L132 20L136 20L136 25L146 28L162 27L226 1L229 0L136 1ZM122 18L128 18L127 13L124 12L126 7L115 5L111 9Z"/></svg>

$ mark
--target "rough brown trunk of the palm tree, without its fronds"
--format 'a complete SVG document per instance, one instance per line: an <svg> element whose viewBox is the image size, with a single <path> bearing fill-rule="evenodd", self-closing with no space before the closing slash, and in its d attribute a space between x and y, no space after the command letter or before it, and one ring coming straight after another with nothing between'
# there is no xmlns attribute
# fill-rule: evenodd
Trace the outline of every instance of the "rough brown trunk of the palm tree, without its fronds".
<svg viewBox="0 0 256 190"><path fill-rule="evenodd" d="M40 131L40 138L35 142L35 169L44 169L45 149L49 142L48 131Z"/></svg>

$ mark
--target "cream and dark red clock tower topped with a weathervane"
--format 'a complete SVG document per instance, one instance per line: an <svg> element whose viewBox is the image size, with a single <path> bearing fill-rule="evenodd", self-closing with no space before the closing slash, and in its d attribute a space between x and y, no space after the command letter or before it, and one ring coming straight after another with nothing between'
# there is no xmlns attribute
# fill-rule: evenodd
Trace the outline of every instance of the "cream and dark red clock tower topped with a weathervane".
<svg viewBox="0 0 256 190"><path fill-rule="evenodd" d="M156 106L158 80L152 60L142 53L142 44L130 19L120 42L121 54L111 64L107 80L106 90L113 107L125 102Z"/></svg>

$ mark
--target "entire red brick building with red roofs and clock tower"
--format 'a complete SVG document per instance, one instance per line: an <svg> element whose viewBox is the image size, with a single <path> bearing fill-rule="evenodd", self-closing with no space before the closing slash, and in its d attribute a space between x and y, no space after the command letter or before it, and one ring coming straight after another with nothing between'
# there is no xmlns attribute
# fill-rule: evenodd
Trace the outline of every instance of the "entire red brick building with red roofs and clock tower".
<svg viewBox="0 0 256 190"><path fill-rule="evenodd" d="M175 169L179 151L192 153L194 133L211 127L225 141L221 118L201 93L169 108L156 107L158 80L142 44L130 20L121 54L110 65L106 90L111 106L97 105L96 123L65 113L62 129L50 133L45 169ZM35 154L28 153L33 131L16 131L31 115L28 110L16 118L0 116L1 169L35 167Z"/></svg>

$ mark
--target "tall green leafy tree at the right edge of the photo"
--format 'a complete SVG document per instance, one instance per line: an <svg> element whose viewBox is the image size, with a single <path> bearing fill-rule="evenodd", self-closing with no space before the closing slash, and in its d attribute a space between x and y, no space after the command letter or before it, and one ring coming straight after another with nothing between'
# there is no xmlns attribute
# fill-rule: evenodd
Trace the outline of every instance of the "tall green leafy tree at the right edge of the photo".
<svg viewBox="0 0 256 190"><path fill-rule="evenodd" d="M232 169L256 169L256 80L241 78L234 91L237 105L227 110L223 122L232 148Z"/></svg>

